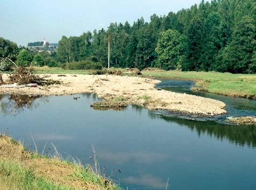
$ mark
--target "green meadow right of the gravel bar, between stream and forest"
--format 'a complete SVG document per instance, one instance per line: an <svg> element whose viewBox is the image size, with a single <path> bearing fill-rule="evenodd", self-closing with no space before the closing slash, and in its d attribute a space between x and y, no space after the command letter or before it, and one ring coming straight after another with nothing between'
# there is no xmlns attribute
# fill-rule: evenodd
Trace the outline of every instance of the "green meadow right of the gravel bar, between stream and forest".
<svg viewBox="0 0 256 190"><path fill-rule="evenodd" d="M152 70L143 71L143 76L194 80L196 90L234 97L256 98L256 74Z"/></svg>

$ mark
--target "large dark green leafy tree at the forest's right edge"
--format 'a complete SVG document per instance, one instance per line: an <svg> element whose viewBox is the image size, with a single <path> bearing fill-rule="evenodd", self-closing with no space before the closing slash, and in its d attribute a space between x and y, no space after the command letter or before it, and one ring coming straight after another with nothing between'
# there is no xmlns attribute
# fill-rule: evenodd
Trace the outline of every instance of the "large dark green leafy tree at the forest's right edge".
<svg viewBox="0 0 256 190"><path fill-rule="evenodd" d="M219 71L254 73L256 27L250 16L241 18L232 34L232 41L219 55Z"/></svg>

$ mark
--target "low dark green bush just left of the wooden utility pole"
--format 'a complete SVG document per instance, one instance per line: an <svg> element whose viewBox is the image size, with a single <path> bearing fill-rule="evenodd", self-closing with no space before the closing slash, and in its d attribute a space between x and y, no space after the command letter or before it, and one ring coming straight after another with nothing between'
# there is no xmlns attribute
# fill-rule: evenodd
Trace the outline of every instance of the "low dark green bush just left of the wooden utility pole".
<svg viewBox="0 0 256 190"><path fill-rule="evenodd" d="M66 64L65 69L69 69L69 70L88 70L88 69L101 70L102 64L95 63L95 62L92 62L89 60L80 61L80 62L70 62L70 63Z"/></svg>

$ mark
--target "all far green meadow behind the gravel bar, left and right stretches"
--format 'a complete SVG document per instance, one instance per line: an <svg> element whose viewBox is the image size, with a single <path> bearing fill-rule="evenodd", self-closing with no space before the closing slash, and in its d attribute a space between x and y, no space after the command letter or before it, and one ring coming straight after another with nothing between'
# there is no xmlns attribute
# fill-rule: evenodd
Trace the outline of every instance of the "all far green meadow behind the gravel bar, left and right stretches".
<svg viewBox="0 0 256 190"><path fill-rule="evenodd" d="M33 67L35 74L93 74L96 70L65 70L59 67ZM113 68L111 68L113 70ZM117 69L125 75L125 69ZM4 73L4 72L2 72ZM150 68L142 71L143 77L147 78L170 78L193 80L196 86L193 90L200 90L231 97L256 99L256 75L255 74L232 74L219 72L183 72L163 71Z"/></svg>

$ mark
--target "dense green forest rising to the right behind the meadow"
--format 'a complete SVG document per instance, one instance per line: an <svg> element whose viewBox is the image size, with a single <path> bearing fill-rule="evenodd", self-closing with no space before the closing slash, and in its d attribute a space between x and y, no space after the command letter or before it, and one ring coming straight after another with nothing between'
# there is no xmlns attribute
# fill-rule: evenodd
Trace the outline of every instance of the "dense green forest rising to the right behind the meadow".
<svg viewBox="0 0 256 190"><path fill-rule="evenodd" d="M107 29L93 33L62 36L52 55L44 52L32 55L34 53L28 50L13 48L11 42L9 50L10 55L19 51L12 59L20 64L26 57L39 66L90 69L86 65L94 64L97 68L106 67L110 37L110 65L113 67L255 73L255 24L254 0L202 1L190 9L170 12L166 16L153 14L149 22L144 18L132 25L127 21L124 24L113 22ZM0 42L0 58L8 56L5 52L8 48L3 44Z"/></svg>

